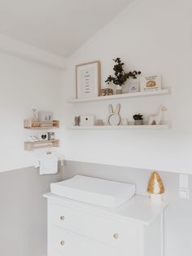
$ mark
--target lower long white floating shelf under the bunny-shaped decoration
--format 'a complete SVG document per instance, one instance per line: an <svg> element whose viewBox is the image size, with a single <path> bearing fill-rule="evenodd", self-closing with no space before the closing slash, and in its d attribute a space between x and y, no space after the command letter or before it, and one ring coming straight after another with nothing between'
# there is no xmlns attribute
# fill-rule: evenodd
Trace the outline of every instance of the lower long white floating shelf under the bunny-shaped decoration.
<svg viewBox="0 0 192 256"><path fill-rule="evenodd" d="M169 126L68 126L67 128L68 130L166 130Z"/></svg>

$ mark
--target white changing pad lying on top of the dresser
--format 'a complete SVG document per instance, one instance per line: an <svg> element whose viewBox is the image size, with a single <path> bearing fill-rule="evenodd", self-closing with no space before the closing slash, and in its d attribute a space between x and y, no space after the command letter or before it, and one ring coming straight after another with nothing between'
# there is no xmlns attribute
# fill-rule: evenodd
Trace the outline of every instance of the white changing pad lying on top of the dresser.
<svg viewBox="0 0 192 256"><path fill-rule="evenodd" d="M115 208L134 196L135 185L76 175L72 179L51 183L50 192L76 201Z"/></svg>

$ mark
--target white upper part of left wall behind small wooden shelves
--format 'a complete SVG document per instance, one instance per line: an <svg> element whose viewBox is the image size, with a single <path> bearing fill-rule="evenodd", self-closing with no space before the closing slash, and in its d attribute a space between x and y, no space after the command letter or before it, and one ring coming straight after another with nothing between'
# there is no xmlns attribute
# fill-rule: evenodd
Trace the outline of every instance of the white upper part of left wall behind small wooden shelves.
<svg viewBox="0 0 192 256"><path fill-rule="evenodd" d="M0 172L33 166L33 152L24 151L24 139L34 132L24 130L23 121L32 108L60 118L60 75L57 69L0 53Z"/></svg>

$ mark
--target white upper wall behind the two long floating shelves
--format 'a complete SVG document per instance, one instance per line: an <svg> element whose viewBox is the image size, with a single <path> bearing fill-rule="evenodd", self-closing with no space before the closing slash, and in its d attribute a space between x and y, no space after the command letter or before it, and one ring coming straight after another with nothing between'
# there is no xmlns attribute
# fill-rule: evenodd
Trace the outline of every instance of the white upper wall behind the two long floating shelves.
<svg viewBox="0 0 192 256"><path fill-rule="evenodd" d="M190 0L146 0L134 2L116 20L91 38L72 56L63 97L75 95L75 65L91 60L102 62L102 83L112 71L111 59L120 56L130 69L161 73L171 95L124 99L112 102L63 104L65 125L74 116L94 113L107 118L109 103L121 104L121 117L133 113L155 113L159 104L168 107L165 118L171 130L65 130L65 157L142 169L192 173L192 2Z"/></svg>

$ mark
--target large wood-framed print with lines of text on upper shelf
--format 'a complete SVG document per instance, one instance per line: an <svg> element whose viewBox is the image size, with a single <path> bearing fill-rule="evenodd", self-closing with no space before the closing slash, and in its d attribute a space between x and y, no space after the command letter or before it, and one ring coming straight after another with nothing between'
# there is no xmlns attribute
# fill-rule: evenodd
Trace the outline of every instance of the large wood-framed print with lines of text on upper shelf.
<svg viewBox="0 0 192 256"><path fill-rule="evenodd" d="M76 65L76 99L99 96L101 63L99 60Z"/></svg>

